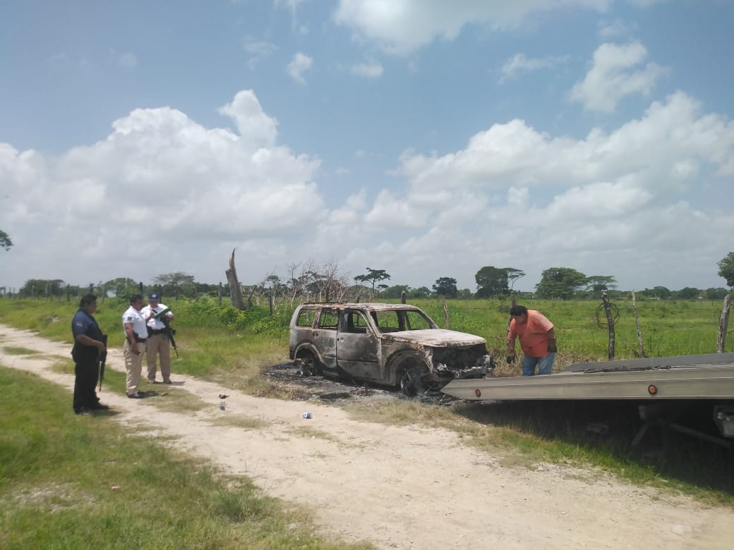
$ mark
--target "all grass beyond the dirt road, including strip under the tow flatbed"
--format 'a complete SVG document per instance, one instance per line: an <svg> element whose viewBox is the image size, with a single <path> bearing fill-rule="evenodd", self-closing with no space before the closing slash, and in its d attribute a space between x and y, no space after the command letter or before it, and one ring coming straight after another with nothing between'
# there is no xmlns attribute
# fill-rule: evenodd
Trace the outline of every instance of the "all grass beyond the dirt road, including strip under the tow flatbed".
<svg viewBox="0 0 734 550"><path fill-rule="evenodd" d="M175 312L174 324L178 328L176 338L181 356L174 357L174 373L225 381L233 389L251 395L288 397L280 395L260 373L263 367L288 359L289 309L277 307L271 317L266 308L238 312L211 298L167 300L166 304ZM444 326L442 301L416 301L415 304L423 307L439 326ZM109 333L110 346L122 345L121 315L127 305L126 301L115 299L99 304L96 317L102 329ZM598 309L600 302L528 301L524 305L539 309L556 325L559 340L556 370L573 362L606 359L608 329L597 323L597 315L605 319ZM501 373L519 375L517 364L513 367L504 364L509 307L506 301L448 301L447 307L451 329L485 337ZM721 307L722 304L710 301L638 301L646 354L713 353ZM631 301L618 302L616 309L619 312L615 320L617 358L639 356ZM70 319L75 311L76 304L67 301L0 299L0 322L67 342L70 342ZM732 343L727 342L727 351L732 349ZM118 382L122 384L122 379ZM410 402L349 407L357 417L375 422L412 422L454 429L479 448L492 452L511 450L507 455L515 457L509 458L512 461L570 461L591 465L634 483L675 488L700 499L734 505L734 469L730 455L721 448L674 436L667 444L673 445L675 452L646 456L638 452L644 449L631 449L631 436L602 439L590 437L586 432L585 419L589 414L604 417L613 411L584 410L581 406L561 411L562 408L556 407L554 411L542 406L490 408L469 403L446 410ZM631 424L634 420L624 417ZM502 428L504 435L500 440L488 436L487 426Z"/></svg>

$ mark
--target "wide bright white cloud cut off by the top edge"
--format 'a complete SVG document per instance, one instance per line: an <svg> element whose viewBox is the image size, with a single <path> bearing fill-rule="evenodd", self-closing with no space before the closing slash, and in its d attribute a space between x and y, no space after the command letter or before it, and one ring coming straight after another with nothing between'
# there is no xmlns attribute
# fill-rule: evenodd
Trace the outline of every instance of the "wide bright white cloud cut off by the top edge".
<svg viewBox="0 0 734 550"><path fill-rule="evenodd" d="M611 0L340 0L333 17L354 29L360 40L373 40L394 54L408 54L437 38L454 40L469 25L517 29L539 12L574 7L603 12L610 4Z"/></svg>

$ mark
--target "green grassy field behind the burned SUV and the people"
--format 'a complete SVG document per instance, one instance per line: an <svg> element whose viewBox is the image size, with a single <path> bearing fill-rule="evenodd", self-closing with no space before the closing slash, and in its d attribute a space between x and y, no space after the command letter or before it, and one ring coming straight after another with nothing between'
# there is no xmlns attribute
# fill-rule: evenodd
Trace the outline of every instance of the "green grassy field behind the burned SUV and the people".
<svg viewBox="0 0 734 550"><path fill-rule="evenodd" d="M443 301L415 300L439 326L445 326ZM279 304L273 315L267 307L238 311L205 296L197 300L167 300L175 312L176 341L181 357L175 359L178 372L214 375L226 371L252 377L264 364L288 359L288 321L292 309ZM554 370L575 362L607 359L609 331L600 301L531 300L524 303L537 309L556 327L559 353ZM641 356L635 312L631 300L614 304L615 358ZM128 307L122 298L107 298L98 305L96 317L109 334L111 346L123 342L121 316ZM509 301L449 300L450 328L478 334L498 363L504 358ZM39 331L46 337L70 340L70 320L76 304L43 299L0 299L0 321L23 329ZM638 301L637 322L642 331L646 356L675 356L716 351L721 304L711 301ZM731 342L728 346L732 348Z"/></svg>

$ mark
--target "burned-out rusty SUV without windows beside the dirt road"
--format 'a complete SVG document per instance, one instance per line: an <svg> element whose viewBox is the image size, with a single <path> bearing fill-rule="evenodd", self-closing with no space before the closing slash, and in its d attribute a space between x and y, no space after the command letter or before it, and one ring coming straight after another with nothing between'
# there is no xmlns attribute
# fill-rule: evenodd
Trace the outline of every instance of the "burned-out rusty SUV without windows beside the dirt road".
<svg viewBox="0 0 734 550"><path fill-rule="evenodd" d="M398 386L409 396L493 368L484 338L439 329L406 304L303 304L290 329L290 357L305 375Z"/></svg>

